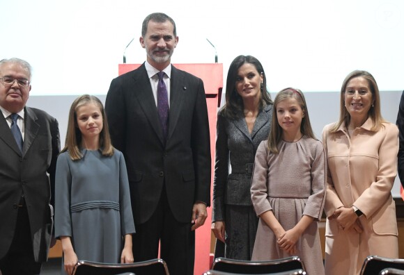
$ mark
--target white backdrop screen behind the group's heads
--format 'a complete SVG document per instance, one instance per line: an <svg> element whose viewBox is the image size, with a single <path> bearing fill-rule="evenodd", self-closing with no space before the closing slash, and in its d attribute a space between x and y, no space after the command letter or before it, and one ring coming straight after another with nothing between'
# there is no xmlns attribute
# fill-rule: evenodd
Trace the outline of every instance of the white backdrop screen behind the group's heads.
<svg viewBox="0 0 404 275"><path fill-rule="evenodd" d="M173 63L212 63L224 76L235 56L256 56L271 92L337 91L353 69L375 76L380 90L404 87L404 1L1 2L0 57L33 65L31 95L106 94L127 49L142 63L141 22L151 12L173 17L180 38Z"/></svg>

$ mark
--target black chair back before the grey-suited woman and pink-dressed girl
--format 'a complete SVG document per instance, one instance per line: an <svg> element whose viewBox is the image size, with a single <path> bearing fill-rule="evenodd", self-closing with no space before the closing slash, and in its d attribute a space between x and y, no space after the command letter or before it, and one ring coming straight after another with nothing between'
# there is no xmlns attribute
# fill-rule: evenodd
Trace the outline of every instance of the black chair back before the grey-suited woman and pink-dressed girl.
<svg viewBox="0 0 404 275"><path fill-rule="evenodd" d="M289 272L302 269L303 261L297 256L279 260L249 261L216 258L212 264L212 271L228 272L230 274L276 274L276 272Z"/></svg>

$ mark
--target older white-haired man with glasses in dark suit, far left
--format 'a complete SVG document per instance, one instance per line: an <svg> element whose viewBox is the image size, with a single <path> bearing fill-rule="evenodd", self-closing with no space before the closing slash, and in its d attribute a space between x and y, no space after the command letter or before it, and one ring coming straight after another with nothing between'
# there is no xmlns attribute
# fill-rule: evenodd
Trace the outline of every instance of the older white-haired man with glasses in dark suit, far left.
<svg viewBox="0 0 404 275"><path fill-rule="evenodd" d="M54 117L26 107L31 66L0 60L0 270L39 274L52 236L59 127ZM49 176L48 176L48 174ZM50 178L50 181L49 181Z"/></svg>

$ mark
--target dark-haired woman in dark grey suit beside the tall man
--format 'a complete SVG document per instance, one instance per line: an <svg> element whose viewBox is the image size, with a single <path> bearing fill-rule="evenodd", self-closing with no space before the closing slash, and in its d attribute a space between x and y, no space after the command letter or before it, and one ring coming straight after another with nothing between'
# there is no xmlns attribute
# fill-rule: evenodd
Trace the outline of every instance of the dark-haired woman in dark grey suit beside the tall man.
<svg viewBox="0 0 404 275"><path fill-rule="evenodd" d="M266 83L256 58L238 56L228 69L226 104L217 115L212 231L225 243L224 256L236 260L251 259L256 237L250 187L256 149L270 132L273 102Z"/></svg>

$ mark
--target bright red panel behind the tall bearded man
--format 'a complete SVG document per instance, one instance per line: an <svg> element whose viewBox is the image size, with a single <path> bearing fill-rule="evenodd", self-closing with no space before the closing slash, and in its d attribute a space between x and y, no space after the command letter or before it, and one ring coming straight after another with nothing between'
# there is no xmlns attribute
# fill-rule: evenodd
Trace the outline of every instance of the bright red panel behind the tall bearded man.
<svg viewBox="0 0 404 275"><path fill-rule="evenodd" d="M125 74L137 69L140 64L119 64L118 74ZM223 64L174 64L178 69L194 74L203 80L205 94L207 94L206 103L208 104L209 128L210 128L210 155L212 156L212 175L210 198L212 198L213 171L215 167L215 143L216 143L216 122L217 107L222 97L223 88ZM191 217L189 217L190 219ZM210 224L212 223L212 208L208 208L208 218L205 224L196 229L195 240L195 267L194 274L203 274L210 269Z"/></svg>

